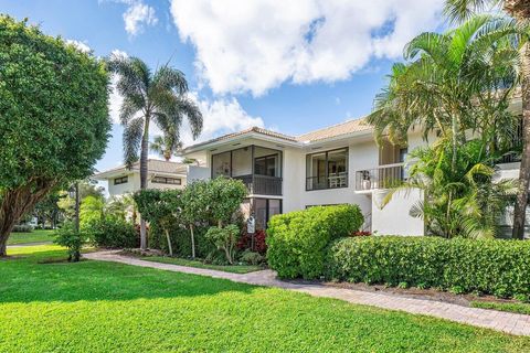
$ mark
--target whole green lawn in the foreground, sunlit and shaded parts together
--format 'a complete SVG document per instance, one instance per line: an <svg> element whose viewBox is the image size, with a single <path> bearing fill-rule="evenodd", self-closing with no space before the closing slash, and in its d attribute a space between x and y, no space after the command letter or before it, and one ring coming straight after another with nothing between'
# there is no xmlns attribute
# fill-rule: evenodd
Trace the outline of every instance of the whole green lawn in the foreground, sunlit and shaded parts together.
<svg viewBox="0 0 530 353"><path fill-rule="evenodd" d="M115 263L0 260L0 352L530 352L530 338Z"/></svg>

